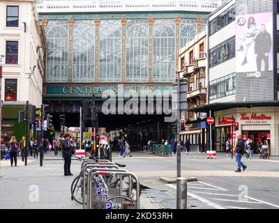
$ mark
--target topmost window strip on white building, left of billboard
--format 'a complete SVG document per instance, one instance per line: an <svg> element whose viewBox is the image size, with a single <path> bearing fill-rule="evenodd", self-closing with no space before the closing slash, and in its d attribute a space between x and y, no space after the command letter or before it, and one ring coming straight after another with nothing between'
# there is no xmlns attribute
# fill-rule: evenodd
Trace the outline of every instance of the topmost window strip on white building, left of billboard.
<svg viewBox="0 0 279 223"><path fill-rule="evenodd" d="M235 20L235 8L231 6L225 12L218 15L216 18L209 22L209 35L216 33L223 27L227 26L227 24L233 22Z"/></svg>

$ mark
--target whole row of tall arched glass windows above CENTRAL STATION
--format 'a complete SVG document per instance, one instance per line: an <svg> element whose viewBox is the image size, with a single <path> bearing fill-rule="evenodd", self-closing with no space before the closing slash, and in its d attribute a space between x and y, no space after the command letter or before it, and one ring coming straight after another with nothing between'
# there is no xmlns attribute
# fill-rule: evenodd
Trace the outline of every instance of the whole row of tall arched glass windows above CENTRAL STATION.
<svg viewBox="0 0 279 223"><path fill-rule="evenodd" d="M206 24L176 17L98 21L47 20L46 82L173 82L177 47Z"/></svg>

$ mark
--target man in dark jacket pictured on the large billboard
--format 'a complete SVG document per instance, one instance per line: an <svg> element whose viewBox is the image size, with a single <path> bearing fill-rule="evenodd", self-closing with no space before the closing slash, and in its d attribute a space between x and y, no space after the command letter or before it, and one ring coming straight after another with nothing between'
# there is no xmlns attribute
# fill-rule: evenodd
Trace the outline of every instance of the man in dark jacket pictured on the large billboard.
<svg viewBox="0 0 279 223"><path fill-rule="evenodd" d="M269 51L271 50L271 35L266 31L266 25L262 24L261 32L255 39L255 56L257 59L257 71L261 71L264 60L264 71L269 70Z"/></svg>

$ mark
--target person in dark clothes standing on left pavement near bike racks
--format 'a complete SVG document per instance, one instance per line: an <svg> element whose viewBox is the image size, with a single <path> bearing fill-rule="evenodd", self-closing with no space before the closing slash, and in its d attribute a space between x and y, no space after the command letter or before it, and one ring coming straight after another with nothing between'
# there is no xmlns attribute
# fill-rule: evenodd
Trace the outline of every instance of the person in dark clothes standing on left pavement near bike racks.
<svg viewBox="0 0 279 223"><path fill-rule="evenodd" d="M65 133L62 141L62 155L64 158L64 176L73 176L70 172L70 162L72 157L72 145L70 144L70 134Z"/></svg>

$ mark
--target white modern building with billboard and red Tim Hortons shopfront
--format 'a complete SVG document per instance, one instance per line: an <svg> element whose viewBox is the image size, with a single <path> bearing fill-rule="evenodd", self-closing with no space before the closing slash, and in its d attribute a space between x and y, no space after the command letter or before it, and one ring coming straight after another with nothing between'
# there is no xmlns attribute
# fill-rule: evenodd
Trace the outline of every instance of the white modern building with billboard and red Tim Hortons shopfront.
<svg viewBox="0 0 279 223"><path fill-rule="evenodd" d="M227 138L241 134L255 148L261 140L271 155L279 155L275 6L278 1L232 0L209 15L209 105L199 110L215 117L216 151L225 151Z"/></svg>

